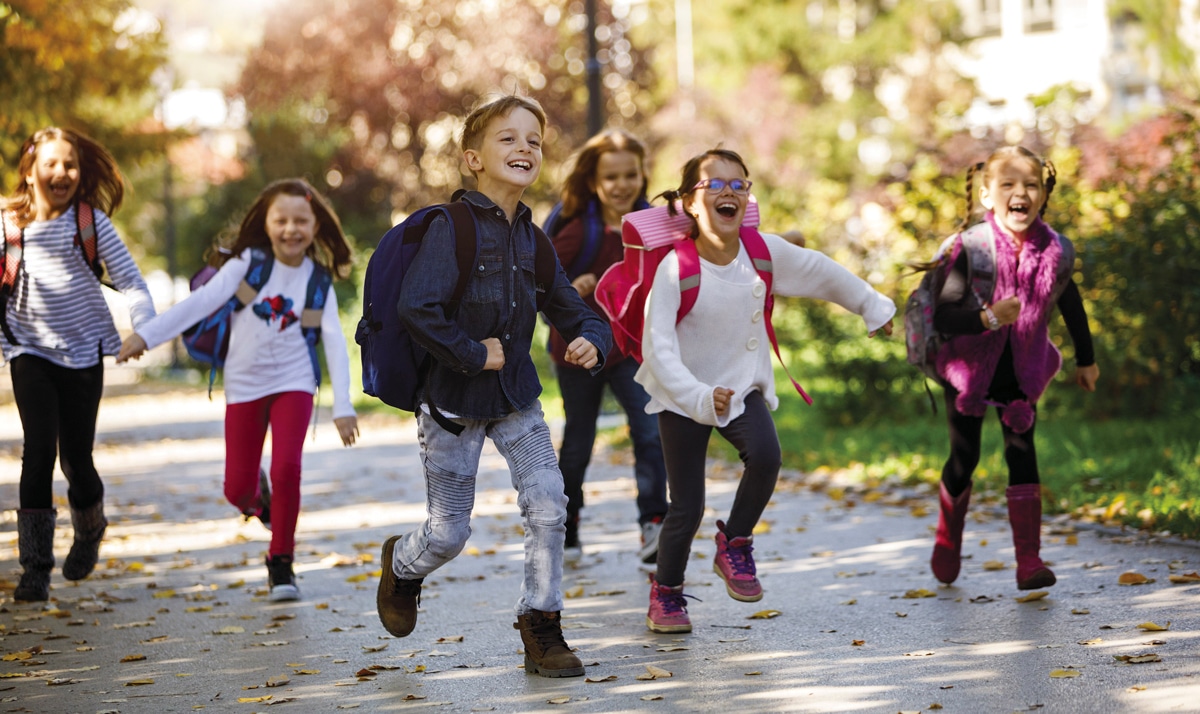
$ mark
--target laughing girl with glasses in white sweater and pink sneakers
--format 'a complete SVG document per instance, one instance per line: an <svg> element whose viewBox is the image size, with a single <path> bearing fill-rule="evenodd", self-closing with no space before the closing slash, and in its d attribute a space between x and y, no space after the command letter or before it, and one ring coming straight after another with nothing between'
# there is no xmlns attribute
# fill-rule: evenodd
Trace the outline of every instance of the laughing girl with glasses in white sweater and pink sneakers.
<svg viewBox="0 0 1200 714"><path fill-rule="evenodd" d="M676 324L679 262L672 252L659 264L646 302L644 361L636 379L650 395L646 410L659 414L671 494L646 620L655 632L691 631L684 570L704 515L704 461L714 428L737 448L745 470L728 522L716 522L713 570L731 598L762 599L751 534L775 491L782 457L770 418L779 401L763 314L767 286L740 240L748 175L740 156L713 149L691 158L679 188L662 194L692 218L701 281L695 306ZM890 299L821 253L778 235L762 238L773 294L829 300L862 316L869 335L892 334Z"/></svg>

